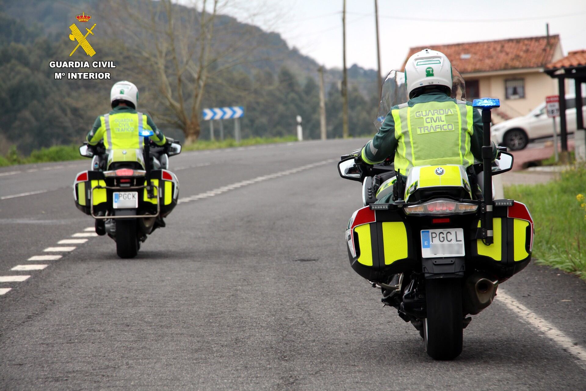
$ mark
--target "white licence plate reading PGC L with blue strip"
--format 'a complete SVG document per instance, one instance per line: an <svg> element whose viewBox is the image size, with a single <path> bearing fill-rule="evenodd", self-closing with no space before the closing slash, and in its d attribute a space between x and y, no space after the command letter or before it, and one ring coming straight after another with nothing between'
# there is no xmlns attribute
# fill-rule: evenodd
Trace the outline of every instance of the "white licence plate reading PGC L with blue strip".
<svg viewBox="0 0 586 391"><path fill-rule="evenodd" d="M424 258L464 256L464 230L461 228L422 230L421 256Z"/></svg>

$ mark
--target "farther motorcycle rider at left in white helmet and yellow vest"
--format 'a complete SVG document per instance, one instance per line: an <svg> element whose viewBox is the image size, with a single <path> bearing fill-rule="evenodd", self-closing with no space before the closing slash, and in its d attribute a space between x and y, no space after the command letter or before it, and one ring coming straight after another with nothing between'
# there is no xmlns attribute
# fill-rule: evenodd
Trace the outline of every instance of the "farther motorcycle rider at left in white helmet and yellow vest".
<svg viewBox="0 0 586 391"><path fill-rule="evenodd" d="M118 81L110 90L112 110L100 115L94 127L87 134L90 145L104 141L106 149L139 149L143 147L143 138L139 129L152 130L155 134L151 140L156 145L165 145L166 139L148 114L137 112L138 89L130 81Z"/></svg>

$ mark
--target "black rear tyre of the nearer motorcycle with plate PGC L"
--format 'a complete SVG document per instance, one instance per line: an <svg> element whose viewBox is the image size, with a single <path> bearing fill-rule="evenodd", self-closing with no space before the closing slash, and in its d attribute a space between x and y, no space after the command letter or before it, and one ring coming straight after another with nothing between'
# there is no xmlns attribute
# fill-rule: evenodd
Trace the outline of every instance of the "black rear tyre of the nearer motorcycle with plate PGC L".
<svg viewBox="0 0 586 391"><path fill-rule="evenodd" d="M453 360L462 352L462 281L460 278L427 279L425 297L425 351L435 360Z"/></svg>

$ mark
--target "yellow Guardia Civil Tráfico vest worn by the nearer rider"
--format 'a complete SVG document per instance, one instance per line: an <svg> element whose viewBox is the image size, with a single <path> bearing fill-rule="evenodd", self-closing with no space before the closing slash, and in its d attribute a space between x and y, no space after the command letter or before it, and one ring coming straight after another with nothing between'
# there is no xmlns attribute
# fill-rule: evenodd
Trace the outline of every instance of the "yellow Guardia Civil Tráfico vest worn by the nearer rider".
<svg viewBox="0 0 586 391"><path fill-rule="evenodd" d="M413 166L469 166L473 108L464 102L427 102L391 111L398 140L395 168L407 175Z"/></svg>

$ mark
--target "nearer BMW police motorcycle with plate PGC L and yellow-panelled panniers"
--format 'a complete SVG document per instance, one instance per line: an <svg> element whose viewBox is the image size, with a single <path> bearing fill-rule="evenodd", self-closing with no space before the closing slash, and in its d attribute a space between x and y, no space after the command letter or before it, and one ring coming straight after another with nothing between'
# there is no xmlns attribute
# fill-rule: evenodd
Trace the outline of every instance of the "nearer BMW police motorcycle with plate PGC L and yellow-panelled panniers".
<svg viewBox="0 0 586 391"><path fill-rule="evenodd" d="M452 73L452 97L465 100L464 79ZM404 73L389 73L377 130L390 108L406 101ZM353 213L345 234L350 265L381 290L383 304L411 322L428 355L440 360L462 352L468 315L492 303L499 285L529 264L533 247L529 209L493 199L492 175L513 165L506 148L491 162L490 109L499 101L483 98L473 106L482 110L485 153L468 169L446 164L398 173L392 157L373 166L356 164L360 150L338 164L342 178L363 183L363 208ZM392 202L375 203L390 192Z"/></svg>

